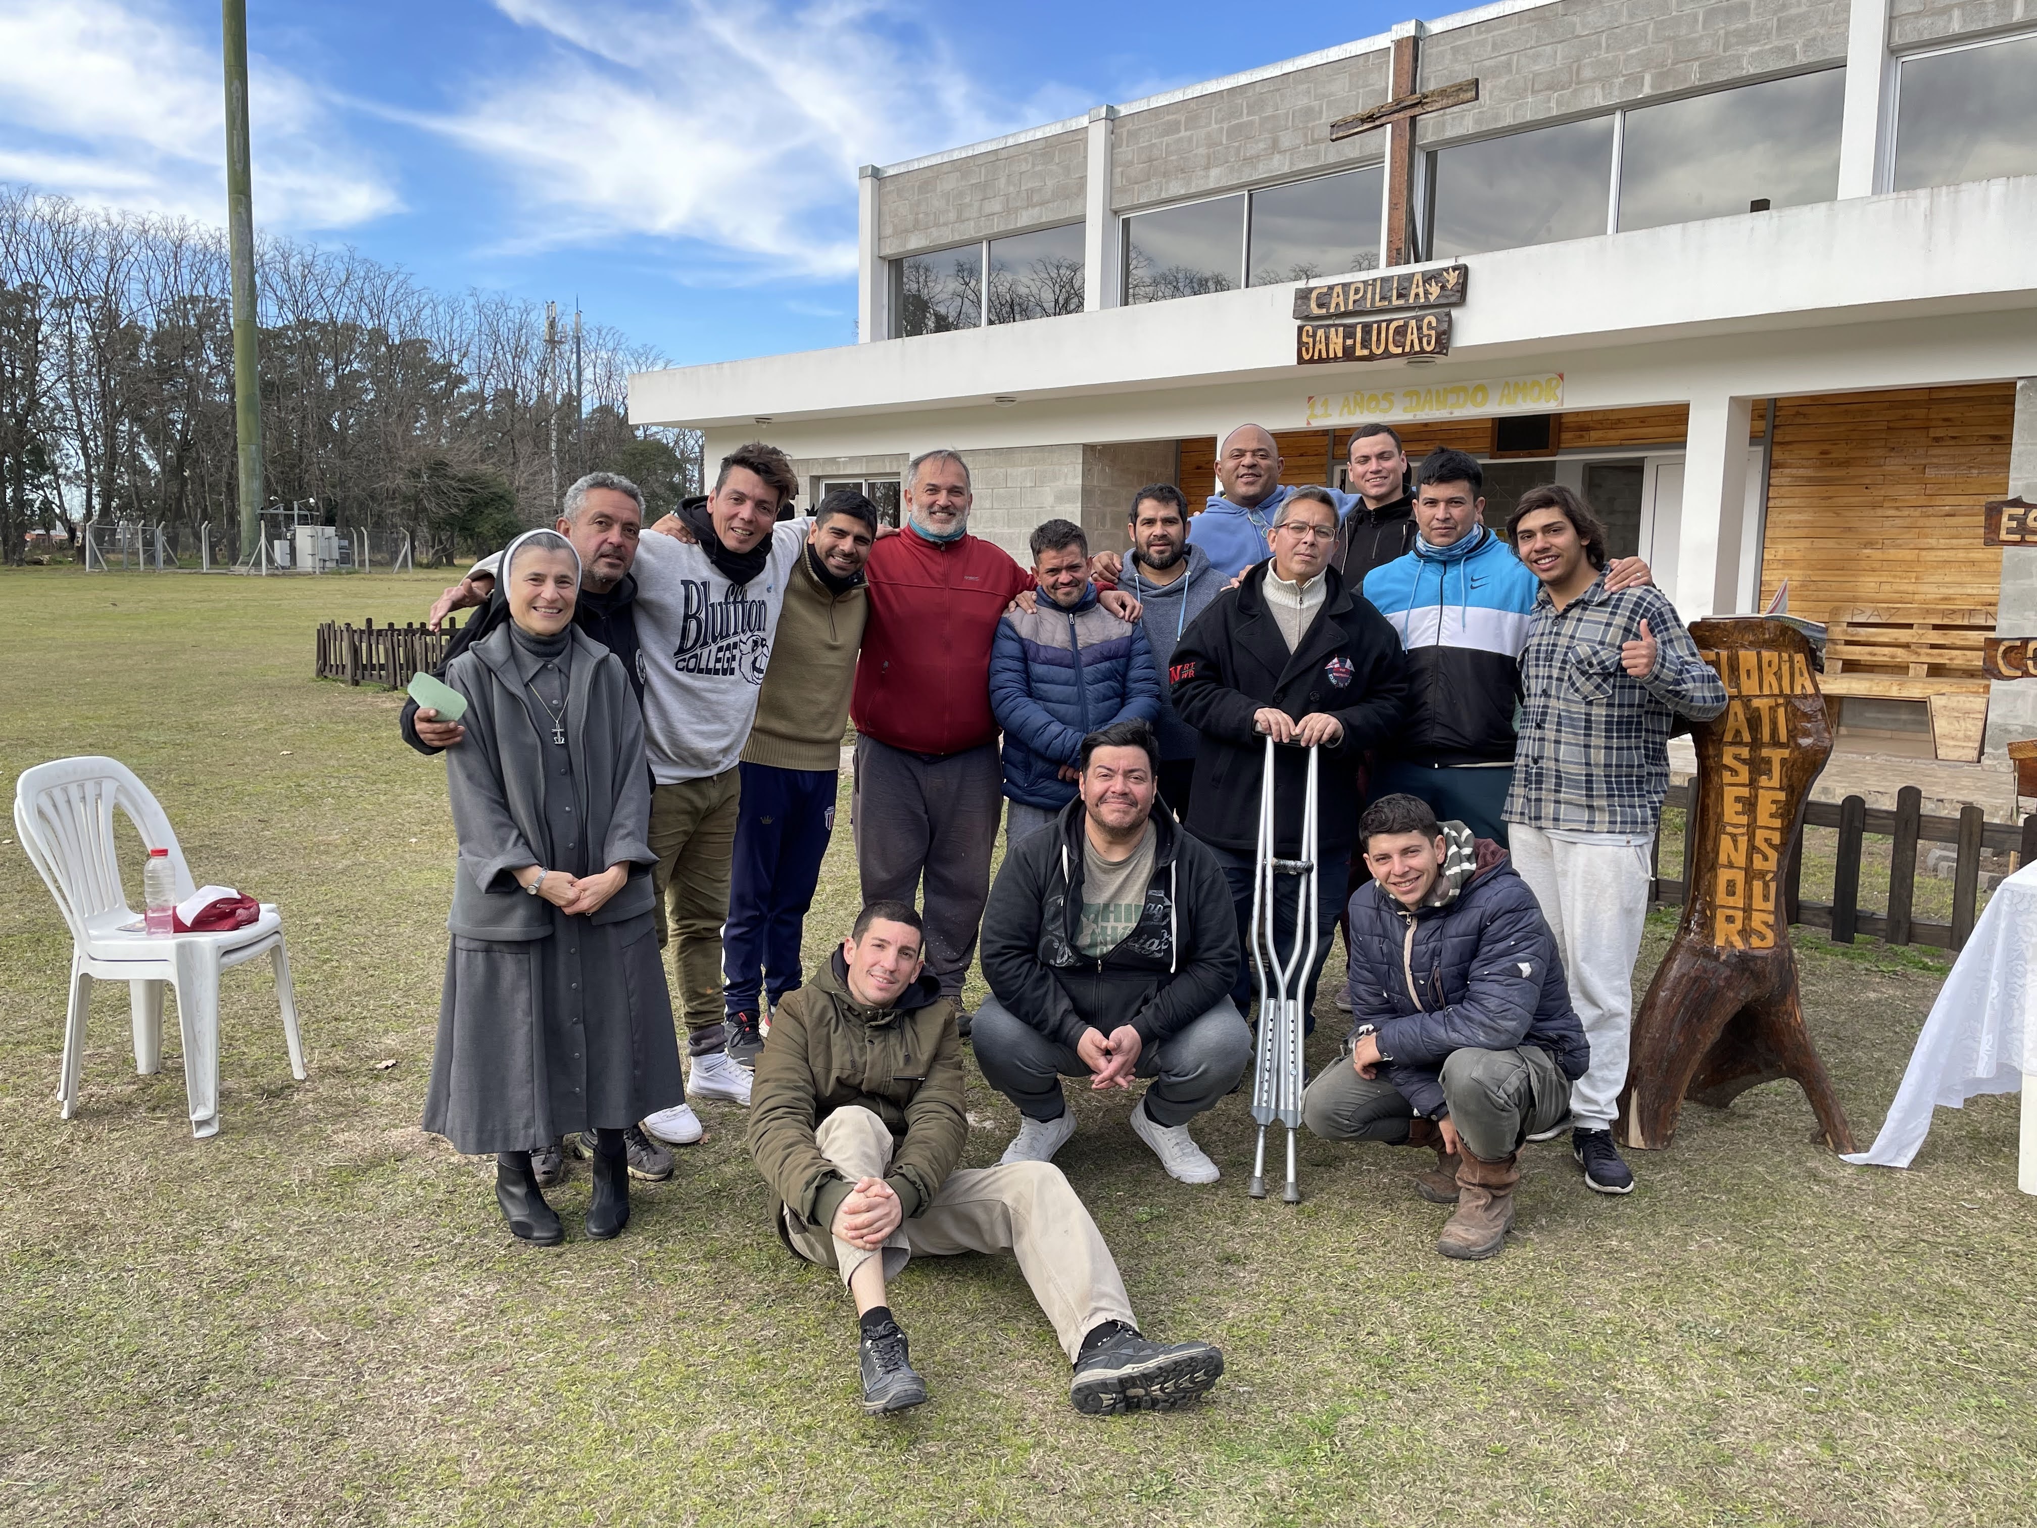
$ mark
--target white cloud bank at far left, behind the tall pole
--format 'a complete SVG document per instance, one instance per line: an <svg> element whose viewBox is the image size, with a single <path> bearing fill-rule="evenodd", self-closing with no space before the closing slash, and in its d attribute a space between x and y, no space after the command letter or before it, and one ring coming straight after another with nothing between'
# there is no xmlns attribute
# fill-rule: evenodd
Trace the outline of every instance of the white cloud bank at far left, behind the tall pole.
<svg viewBox="0 0 2037 1528"><path fill-rule="evenodd" d="M0 181L86 202L226 218L218 39L153 0L0 0ZM320 94L249 61L255 220L344 228L397 208Z"/></svg>

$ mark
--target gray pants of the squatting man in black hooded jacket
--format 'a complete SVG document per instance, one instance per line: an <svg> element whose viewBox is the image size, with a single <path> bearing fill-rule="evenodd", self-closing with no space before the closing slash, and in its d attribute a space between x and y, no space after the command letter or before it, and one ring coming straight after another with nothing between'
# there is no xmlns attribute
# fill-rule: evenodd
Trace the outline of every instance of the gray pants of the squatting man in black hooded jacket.
<svg viewBox="0 0 2037 1528"><path fill-rule="evenodd" d="M1047 1039L996 998L984 998L976 1011L972 1043L984 1082L1018 1104L1027 1118L1059 1118L1067 1108L1061 1078L1090 1076L1073 1045ZM1145 1096L1147 1118L1167 1127L1188 1125L1224 1100L1251 1059L1253 1031L1230 998L1218 998L1214 1008L1167 1039L1139 1049L1133 1070L1153 1080Z"/></svg>

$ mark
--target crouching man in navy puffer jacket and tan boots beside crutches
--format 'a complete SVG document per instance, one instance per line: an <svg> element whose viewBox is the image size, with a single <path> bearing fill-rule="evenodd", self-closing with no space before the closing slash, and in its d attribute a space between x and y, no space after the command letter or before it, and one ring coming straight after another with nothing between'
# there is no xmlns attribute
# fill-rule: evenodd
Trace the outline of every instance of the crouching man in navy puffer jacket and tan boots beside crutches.
<svg viewBox="0 0 2037 1528"><path fill-rule="evenodd" d="M1330 1141L1434 1145L1418 1188L1456 1202L1436 1251L1493 1257L1520 1147L1562 1127L1591 1059L1556 937L1505 850L1416 797L1367 807L1359 841L1373 880L1351 898L1348 1063L1308 1086L1302 1118Z"/></svg>

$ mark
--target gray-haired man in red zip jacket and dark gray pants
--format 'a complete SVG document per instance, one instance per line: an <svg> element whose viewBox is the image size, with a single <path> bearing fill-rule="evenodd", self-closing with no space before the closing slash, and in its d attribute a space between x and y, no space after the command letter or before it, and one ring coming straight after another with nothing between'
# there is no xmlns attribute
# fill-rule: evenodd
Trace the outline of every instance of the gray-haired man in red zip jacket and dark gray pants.
<svg viewBox="0 0 2037 1528"><path fill-rule="evenodd" d="M970 536L970 467L929 450L906 467L909 520L870 552L870 621L856 662L856 870L864 905L919 903L927 964L953 998L990 898L1004 776L990 715L990 646L1033 575ZM1112 613L1139 605L1110 593ZM919 890L925 884L925 901Z"/></svg>

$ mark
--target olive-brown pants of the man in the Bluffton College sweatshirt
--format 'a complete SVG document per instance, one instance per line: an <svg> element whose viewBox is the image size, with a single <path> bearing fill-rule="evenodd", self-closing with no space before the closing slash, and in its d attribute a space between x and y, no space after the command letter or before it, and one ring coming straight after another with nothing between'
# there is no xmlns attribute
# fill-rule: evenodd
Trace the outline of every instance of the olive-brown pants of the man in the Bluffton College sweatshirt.
<svg viewBox="0 0 2037 1528"><path fill-rule="evenodd" d="M650 793L650 852L658 856L658 939L670 927L672 1006L686 1021L686 1053L727 1041L721 1017L721 925L729 917L729 866L741 817L741 774L723 770Z"/></svg>

